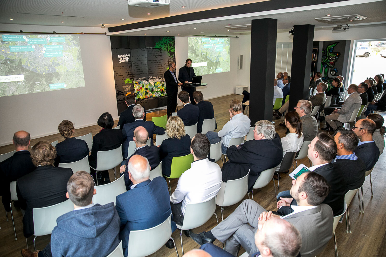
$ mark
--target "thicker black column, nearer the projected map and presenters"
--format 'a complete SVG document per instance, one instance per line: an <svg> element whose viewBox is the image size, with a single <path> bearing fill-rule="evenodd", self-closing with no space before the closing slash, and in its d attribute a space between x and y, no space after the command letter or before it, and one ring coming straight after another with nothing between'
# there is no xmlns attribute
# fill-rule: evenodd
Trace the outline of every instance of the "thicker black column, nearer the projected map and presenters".
<svg viewBox="0 0 386 257"><path fill-rule="evenodd" d="M249 83L251 126L262 119L272 120L278 20L252 20L251 76Z"/></svg>

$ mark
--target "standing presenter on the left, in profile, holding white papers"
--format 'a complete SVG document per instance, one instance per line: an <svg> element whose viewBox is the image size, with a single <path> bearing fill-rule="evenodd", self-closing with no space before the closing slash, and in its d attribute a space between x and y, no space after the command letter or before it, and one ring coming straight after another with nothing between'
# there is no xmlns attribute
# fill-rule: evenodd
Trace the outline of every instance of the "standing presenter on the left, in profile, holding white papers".
<svg viewBox="0 0 386 257"><path fill-rule="evenodd" d="M182 83L178 83L177 81L176 64L174 62L169 63L169 70L165 71L164 78L166 82L166 94L168 95L166 113L169 118L171 113L176 111L178 87L182 85Z"/></svg>

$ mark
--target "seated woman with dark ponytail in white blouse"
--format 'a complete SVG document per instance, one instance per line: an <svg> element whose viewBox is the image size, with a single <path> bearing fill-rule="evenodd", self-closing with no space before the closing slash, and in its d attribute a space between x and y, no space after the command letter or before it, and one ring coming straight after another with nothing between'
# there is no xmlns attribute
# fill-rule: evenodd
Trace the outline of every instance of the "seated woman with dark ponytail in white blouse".
<svg viewBox="0 0 386 257"><path fill-rule="evenodd" d="M281 144L283 145L283 157L287 152L295 153L300 150L303 144L303 133L301 133L303 126L301 124L300 116L295 111L286 113L285 124L289 129L289 133L281 138ZM278 171L281 163L276 167L275 171Z"/></svg>

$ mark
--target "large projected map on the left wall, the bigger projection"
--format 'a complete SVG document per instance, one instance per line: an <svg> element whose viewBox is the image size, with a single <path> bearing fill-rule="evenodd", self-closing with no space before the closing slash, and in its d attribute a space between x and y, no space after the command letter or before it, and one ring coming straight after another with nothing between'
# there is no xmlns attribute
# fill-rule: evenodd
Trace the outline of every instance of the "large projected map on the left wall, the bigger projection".
<svg viewBox="0 0 386 257"><path fill-rule="evenodd" d="M0 35L0 96L84 86L79 36Z"/></svg>

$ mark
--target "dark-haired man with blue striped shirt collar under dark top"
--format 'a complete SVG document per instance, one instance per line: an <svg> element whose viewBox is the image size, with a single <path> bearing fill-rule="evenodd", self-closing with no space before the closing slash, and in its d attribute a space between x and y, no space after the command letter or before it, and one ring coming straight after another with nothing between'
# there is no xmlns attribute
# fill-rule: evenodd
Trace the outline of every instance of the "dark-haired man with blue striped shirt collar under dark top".
<svg viewBox="0 0 386 257"><path fill-rule="evenodd" d="M366 177L366 165L354 153L359 142L358 136L352 130L341 129L335 134L334 139L338 148L334 162L340 167L346 192L360 188Z"/></svg>

